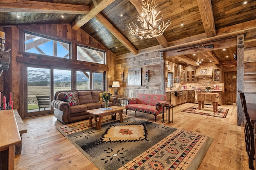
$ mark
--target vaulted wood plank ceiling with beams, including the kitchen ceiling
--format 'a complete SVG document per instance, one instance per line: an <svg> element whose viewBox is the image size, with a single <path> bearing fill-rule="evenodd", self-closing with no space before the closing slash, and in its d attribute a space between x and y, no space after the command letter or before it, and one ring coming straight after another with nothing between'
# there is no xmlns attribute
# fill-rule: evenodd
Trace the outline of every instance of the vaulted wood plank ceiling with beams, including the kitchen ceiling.
<svg viewBox="0 0 256 170"><path fill-rule="evenodd" d="M246 28L256 28L255 0L156 2L164 15L163 20L170 18L171 25L163 35L152 39L138 39L128 32L127 25L136 22L141 13L140 0L0 0L0 26L71 23L73 29L83 29L117 56L130 52L137 54L139 50L153 46L164 50L183 43L192 45L190 41L193 39L216 37L218 33L228 33L230 27L243 23ZM209 61L218 64L234 60L236 47L227 47L225 51L215 47L211 51L194 51L196 55L177 53L167 59L182 65L190 60L195 65Z"/></svg>

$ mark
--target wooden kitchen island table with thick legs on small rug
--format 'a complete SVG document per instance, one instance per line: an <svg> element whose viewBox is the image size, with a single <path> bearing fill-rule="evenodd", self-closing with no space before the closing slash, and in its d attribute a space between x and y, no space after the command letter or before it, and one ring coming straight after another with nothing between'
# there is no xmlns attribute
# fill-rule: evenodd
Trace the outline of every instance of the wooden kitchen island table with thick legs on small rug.
<svg viewBox="0 0 256 170"><path fill-rule="evenodd" d="M198 109L201 110L204 108L204 101L205 102L212 102L212 111L216 111L218 109L218 101L219 101L219 94L218 93L198 93Z"/></svg>

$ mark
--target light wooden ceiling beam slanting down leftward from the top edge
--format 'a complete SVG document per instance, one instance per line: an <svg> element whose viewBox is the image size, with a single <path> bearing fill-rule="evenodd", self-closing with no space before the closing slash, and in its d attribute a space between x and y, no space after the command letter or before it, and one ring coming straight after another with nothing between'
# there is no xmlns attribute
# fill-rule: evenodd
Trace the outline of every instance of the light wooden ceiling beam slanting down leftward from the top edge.
<svg viewBox="0 0 256 170"><path fill-rule="evenodd" d="M87 15L78 16L78 18L76 18L76 20L72 23L72 28L78 30L114 1L115 0L102 0L98 4L96 2L93 3L90 6L90 12Z"/></svg>

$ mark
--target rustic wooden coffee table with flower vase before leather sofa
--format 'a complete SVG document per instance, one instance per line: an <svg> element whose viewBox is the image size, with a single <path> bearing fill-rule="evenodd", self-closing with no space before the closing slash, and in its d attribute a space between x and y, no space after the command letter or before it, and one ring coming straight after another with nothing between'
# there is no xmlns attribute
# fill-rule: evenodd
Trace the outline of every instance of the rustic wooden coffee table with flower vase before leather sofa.
<svg viewBox="0 0 256 170"><path fill-rule="evenodd" d="M125 109L125 107L110 106L110 108L112 108L112 110L103 111L101 108L86 110L86 112L89 113L89 125L90 125L90 127L92 127L92 118L94 118L94 120L95 120L96 129L101 129L102 118L105 115L110 115L111 114L112 115L112 120L116 120L116 113L119 113L119 115L120 115L119 121L123 122L123 109ZM98 117L98 119L97 119L97 117Z"/></svg>

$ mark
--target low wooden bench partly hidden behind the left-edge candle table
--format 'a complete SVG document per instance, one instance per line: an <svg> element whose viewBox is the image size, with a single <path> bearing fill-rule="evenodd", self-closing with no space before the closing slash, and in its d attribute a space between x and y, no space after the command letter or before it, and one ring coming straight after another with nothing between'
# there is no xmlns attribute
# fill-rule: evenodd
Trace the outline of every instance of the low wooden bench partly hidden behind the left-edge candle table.
<svg viewBox="0 0 256 170"><path fill-rule="evenodd" d="M27 133L26 125L23 123L17 109L13 109L13 112L14 112L15 119L16 119L16 122L17 122L17 125L18 125L20 138L22 139L22 134ZM21 144L15 145L15 154L21 154L21 149L22 149L22 141L21 141Z"/></svg>

